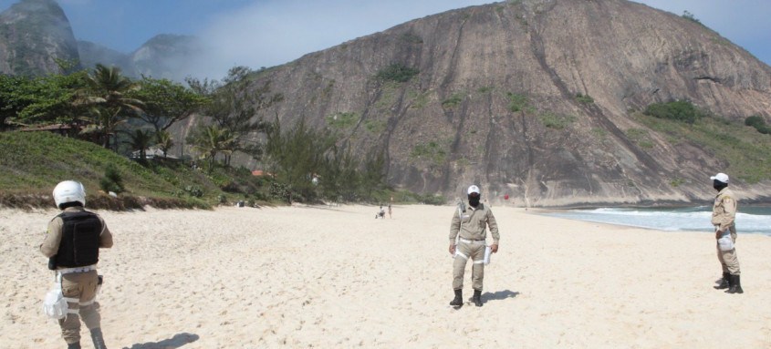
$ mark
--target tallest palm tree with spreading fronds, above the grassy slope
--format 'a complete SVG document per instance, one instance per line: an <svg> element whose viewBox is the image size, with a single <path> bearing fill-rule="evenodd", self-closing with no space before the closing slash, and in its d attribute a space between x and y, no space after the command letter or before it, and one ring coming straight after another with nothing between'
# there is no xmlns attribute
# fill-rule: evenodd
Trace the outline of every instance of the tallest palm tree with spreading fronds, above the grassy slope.
<svg viewBox="0 0 771 349"><path fill-rule="evenodd" d="M104 148L110 148L109 137L121 121L141 112L141 100L125 97L135 88L137 85L124 77L119 67L97 64L86 78L86 87L78 91L75 105L89 108Z"/></svg>

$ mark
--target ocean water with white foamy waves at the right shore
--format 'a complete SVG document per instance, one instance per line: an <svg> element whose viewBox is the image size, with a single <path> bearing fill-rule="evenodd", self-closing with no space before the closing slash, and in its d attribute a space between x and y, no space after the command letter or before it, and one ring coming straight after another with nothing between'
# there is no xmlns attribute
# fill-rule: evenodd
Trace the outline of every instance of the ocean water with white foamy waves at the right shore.
<svg viewBox="0 0 771 349"><path fill-rule="evenodd" d="M595 221L650 228L659 231L713 232L710 224L712 206L690 208L599 208L589 210L561 210L544 213L552 217L578 221ZM771 236L771 207L739 207L736 213L736 231Z"/></svg>

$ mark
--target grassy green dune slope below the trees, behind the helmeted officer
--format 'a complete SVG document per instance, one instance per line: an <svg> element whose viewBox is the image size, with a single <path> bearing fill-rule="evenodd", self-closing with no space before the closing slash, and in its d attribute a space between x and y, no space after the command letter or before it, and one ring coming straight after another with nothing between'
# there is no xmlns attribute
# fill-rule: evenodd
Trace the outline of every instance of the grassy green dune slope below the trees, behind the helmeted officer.
<svg viewBox="0 0 771 349"><path fill-rule="evenodd" d="M109 166L118 169L125 191L119 199L99 192ZM155 160L140 164L108 149L47 132L0 133L0 205L49 207L51 190L61 180L86 186L89 207L210 208L230 200L259 199L260 181L248 170L205 173L189 164Z"/></svg>

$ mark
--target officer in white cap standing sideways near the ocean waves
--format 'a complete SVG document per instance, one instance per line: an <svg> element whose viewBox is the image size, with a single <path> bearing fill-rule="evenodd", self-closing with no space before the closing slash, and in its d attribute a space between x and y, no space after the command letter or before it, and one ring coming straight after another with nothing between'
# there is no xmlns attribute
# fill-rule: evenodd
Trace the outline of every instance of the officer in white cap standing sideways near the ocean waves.
<svg viewBox="0 0 771 349"><path fill-rule="evenodd" d="M739 280L739 259L736 256L736 208L738 202L734 192L728 189L728 175L718 173L710 179L713 188L717 190L712 209L712 224L714 225L714 238L717 240L717 259L723 267L723 279L714 286L725 293L745 293Z"/></svg>

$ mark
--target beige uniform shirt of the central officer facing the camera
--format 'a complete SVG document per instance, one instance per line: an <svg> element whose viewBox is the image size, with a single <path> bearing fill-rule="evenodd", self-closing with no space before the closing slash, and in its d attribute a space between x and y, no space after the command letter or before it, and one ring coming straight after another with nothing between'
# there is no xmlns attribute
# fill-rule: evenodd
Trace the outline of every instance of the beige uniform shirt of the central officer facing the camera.
<svg viewBox="0 0 771 349"><path fill-rule="evenodd" d="M453 222L450 224L450 244L455 243L455 237L459 234L466 240L484 240L487 238L487 227L490 227L493 244L497 245L500 235L492 210L481 202L476 209L468 206L465 212L455 208Z"/></svg>

